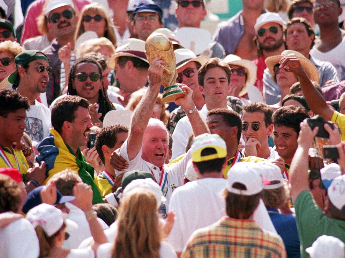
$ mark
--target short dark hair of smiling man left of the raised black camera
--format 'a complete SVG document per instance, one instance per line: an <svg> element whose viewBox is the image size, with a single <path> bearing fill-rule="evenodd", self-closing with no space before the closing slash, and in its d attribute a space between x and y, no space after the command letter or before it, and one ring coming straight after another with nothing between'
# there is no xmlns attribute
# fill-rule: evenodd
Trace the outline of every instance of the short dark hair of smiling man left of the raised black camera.
<svg viewBox="0 0 345 258"><path fill-rule="evenodd" d="M285 126L294 129L299 134L299 124L309 115L305 108L297 106L285 106L277 109L272 116L274 126Z"/></svg>

